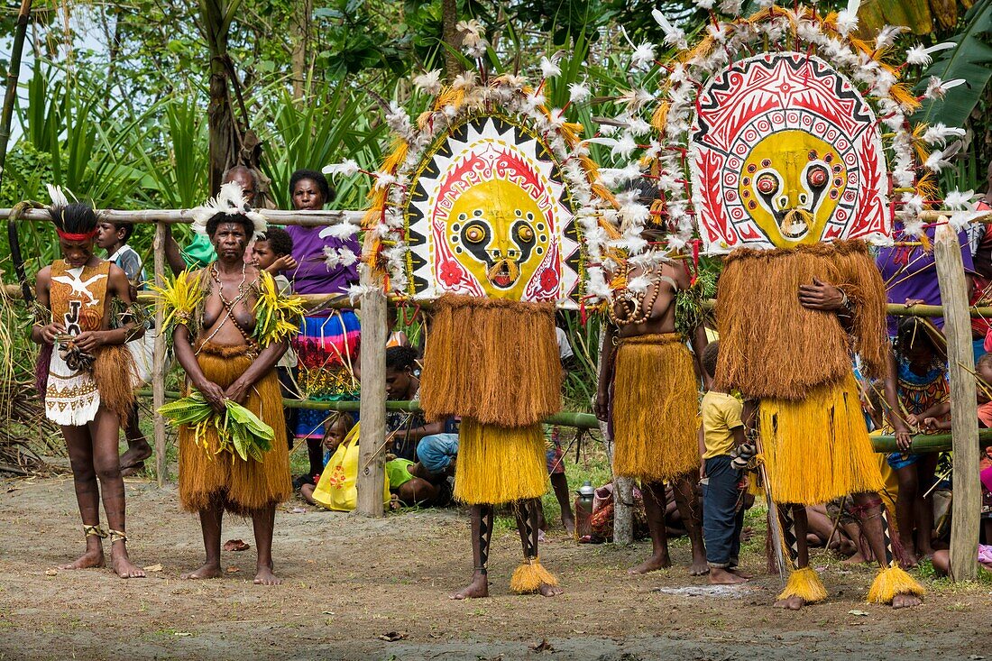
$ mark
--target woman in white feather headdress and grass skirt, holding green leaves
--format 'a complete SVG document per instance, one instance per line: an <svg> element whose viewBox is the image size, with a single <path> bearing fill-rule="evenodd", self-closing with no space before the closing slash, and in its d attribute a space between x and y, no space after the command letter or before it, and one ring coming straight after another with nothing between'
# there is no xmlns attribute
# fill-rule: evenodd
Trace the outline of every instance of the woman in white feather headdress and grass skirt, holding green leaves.
<svg viewBox="0 0 992 661"><path fill-rule="evenodd" d="M188 385L219 413L225 400L243 405L285 437L283 403L276 362L286 351L291 302L280 299L272 277L244 261L253 234L265 230L265 219L250 211L240 188L227 185L220 195L193 212L193 228L206 233L217 260L198 271L181 274L162 293L167 328L173 328L176 357ZM273 573L272 535L276 505L292 494L289 453L285 443L268 449L235 453L217 427L180 427L180 502L198 512L206 562L184 575L212 579L220 567L220 532L224 512L250 516L258 549L255 583L278 585Z"/></svg>

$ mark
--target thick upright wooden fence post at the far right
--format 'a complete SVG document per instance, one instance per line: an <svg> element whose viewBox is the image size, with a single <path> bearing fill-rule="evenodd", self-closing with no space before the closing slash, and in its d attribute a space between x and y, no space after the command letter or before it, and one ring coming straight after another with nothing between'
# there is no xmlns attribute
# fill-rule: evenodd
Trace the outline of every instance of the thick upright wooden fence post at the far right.
<svg viewBox="0 0 992 661"><path fill-rule="evenodd" d="M945 218L944 218L945 220ZM950 372L950 420L954 448L954 507L950 524L950 577L973 581L978 576L975 549L981 514L978 478L978 413L975 398L974 353L968 290L964 281L961 246L946 224L934 232L933 256L943 301Z"/></svg>

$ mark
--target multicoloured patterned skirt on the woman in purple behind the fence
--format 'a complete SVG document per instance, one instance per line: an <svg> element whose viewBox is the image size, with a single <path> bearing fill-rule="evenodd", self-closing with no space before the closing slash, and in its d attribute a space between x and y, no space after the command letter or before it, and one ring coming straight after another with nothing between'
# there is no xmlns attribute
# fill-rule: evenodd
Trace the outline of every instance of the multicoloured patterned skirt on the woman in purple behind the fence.
<svg viewBox="0 0 992 661"><path fill-rule="evenodd" d="M358 380L352 368L358 360L358 318L350 310L330 317L306 317L293 340L297 352L297 385L304 399L315 402L358 398ZM326 411L300 409L298 439L323 437Z"/></svg>

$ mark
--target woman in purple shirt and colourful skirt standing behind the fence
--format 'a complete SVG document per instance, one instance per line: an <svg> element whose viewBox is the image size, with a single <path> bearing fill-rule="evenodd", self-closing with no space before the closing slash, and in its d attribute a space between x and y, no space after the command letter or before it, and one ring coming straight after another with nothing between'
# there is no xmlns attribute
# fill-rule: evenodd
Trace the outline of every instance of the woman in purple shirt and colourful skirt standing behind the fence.
<svg viewBox="0 0 992 661"><path fill-rule="evenodd" d="M313 170L298 170L290 178L296 209L321 209L332 197L327 180ZM286 272L294 294L344 294L358 282L361 247L356 237L329 236L325 227L290 225L295 269ZM301 324L293 341L297 352L297 384L306 399L353 399L357 382L352 364L358 355L358 318L350 310L318 310ZM312 481L323 467L323 411L298 411L296 437L306 439Z"/></svg>

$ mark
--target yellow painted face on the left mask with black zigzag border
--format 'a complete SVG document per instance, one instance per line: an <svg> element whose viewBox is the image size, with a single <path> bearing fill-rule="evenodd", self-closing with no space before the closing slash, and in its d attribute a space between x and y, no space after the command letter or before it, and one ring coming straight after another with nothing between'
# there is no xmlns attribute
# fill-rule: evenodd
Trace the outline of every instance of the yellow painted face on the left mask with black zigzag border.
<svg viewBox="0 0 992 661"><path fill-rule="evenodd" d="M502 180L476 184L454 200L447 237L454 258L497 299L523 298L549 247L538 203Z"/></svg>

